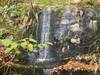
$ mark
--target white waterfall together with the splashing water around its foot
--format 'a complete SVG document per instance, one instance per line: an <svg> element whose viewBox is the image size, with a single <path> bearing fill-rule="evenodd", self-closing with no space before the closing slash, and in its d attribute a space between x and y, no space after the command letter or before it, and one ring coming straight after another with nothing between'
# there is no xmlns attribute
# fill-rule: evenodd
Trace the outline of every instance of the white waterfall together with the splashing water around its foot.
<svg viewBox="0 0 100 75"><path fill-rule="evenodd" d="M38 29L40 35L38 37L38 40L42 44L51 41L50 39L51 37L51 13L52 13L51 8L46 7L42 10L42 14L40 16L40 23L39 23L40 27ZM38 64L38 66L40 65L41 68L52 67L51 62L55 61L55 58L53 58L52 53L53 52L52 50L50 50L50 47L40 49L39 56L36 59L35 63Z"/></svg>

